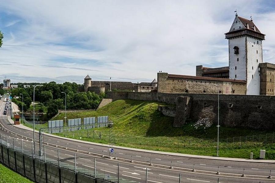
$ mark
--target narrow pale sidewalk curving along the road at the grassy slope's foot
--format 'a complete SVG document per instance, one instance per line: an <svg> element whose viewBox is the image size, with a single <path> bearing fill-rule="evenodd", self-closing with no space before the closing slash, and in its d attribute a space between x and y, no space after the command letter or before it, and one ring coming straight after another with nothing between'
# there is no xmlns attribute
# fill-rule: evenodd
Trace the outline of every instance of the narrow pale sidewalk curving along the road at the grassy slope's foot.
<svg viewBox="0 0 275 183"><path fill-rule="evenodd" d="M9 121L10 124L12 124L15 127L22 128L22 129L29 130L29 131L33 131L32 128L26 127L23 124L14 125L14 122L10 118L10 116L8 116L8 121ZM35 130L35 132L39 132L39 131ZM77 140L77 139L73 139L73 138L60 137L60 136L52 135L52 134L45 134L45 135L56 137L56 138L62 138L62 139L66 139L66 140L71 140L71 141L75 141L75 142L81 142L81 143L86 143L86 144L101 145L101 146L109 147L109 145L107 145L107 144L87 142L87 141ZM210 159L210 160L239 161L239 162L251 162L251 163L275 163L275 160L254 160L254 159L251 160L251 159L242 159L242 158L200 156L200 155L182 154L182 153L175 153L175 152L163 152L163 151L153 151L153 150L146 150L146 149L136 149L136 148L130 148L130 147L121 147L121 146L114 146L114 148L116 148L116 149L126 149L126 150L132 150L132 151L139 151L139 152L149 152L149 153L163 154L163 155L171 155L171 156L202 158L202 159Z"/></svg>

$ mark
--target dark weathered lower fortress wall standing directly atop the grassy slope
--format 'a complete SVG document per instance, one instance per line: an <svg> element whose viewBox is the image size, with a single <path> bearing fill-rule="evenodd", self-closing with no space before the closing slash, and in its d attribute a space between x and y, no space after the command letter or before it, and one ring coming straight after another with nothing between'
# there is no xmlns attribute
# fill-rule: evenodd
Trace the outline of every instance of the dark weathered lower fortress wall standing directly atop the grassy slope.
<svg viewBox="0 0 275 183"><path fill-rule="evenodd" d="M180 127L186 119L193 122L205 118L217 123L217 94L108 92L107 98L165 102L174 105L174 126ZM244 127L275 130L275 96L219 95L220 124L226 127ZM165 110L165 109L161 109ZM171 112L171 106L167 109Z"/></svg>

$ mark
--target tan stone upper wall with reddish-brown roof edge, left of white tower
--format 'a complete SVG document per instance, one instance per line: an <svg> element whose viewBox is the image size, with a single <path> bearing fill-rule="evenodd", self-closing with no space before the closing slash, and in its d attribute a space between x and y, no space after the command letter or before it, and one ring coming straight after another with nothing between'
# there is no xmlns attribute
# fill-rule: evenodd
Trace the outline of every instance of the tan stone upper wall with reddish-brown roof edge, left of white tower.
<svg viewBox="0 0 275 183"><path fill-rule="evenodd" d="M217 86L216 86L217 85ZM186 79L169 77L167 73L158 73L158 92L160 93L205 93L245 95L246 83Z"/></svg>

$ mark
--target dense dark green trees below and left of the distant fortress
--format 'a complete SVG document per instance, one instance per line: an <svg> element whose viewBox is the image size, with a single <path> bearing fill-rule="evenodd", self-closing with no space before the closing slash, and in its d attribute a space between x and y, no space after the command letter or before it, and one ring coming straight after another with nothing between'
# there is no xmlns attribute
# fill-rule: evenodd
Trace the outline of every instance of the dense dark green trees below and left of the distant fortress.
<svg viewBox="0 0 275 183"><path fill-rule="evenodd" d="M58 113L58 109L65 109L65 92L67 94L67 109L95 109L102 98L105 97L105 93L97 95L94 92L78 92L78 84L65 82L63 84L57 84L52 81L50 83L43 83L43 86L35 88L35 102L41 102L40 107L35 107L39 112L47 112L47 116L53 117ZM33 101L33 87L14 88L11 91L11 96L19 96L19 99L13 98L19 108L24 106L24 111L33 109L31 102ZM21 88L22 87L22 88ZM24 103L20 95L24 95ZM46 106L46 111L45 107Z"/></svg>

